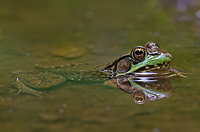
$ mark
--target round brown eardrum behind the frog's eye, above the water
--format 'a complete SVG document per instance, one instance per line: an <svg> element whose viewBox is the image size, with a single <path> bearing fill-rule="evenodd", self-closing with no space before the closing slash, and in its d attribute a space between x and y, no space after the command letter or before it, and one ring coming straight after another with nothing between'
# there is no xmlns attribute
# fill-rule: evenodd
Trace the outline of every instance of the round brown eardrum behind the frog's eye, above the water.
<svg viewBox="0 0 200 132"><path fill-rule="evenodd" d="M130 69L131 69L131 60L129 59L129 57L121 59L117 63L117 72L119 72L119 73L127 72Z"/></svg>

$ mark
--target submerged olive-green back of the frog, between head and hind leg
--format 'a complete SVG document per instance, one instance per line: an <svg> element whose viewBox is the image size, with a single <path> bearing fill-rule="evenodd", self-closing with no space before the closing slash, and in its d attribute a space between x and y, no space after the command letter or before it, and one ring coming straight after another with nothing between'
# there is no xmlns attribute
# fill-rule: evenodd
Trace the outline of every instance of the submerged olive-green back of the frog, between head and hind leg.
<svg viewBox="0 0 200 132"><path fill-rule="evenodd" d="M87 63L67 64L58 66L39 67L41 72L48 72L55 75L61 75L66 80L71 81L105 81L108 74L102 73L97 66L91 66Z"/></svg>

